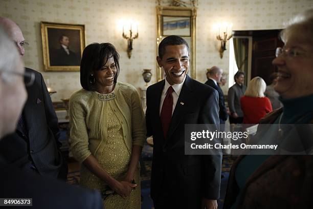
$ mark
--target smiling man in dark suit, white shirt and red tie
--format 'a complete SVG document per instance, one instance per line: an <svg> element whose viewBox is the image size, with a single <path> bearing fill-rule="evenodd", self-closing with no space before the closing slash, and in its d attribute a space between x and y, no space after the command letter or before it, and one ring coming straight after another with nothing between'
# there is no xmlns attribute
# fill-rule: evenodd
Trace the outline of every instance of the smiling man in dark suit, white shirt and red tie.
<svg viewBox="0 0 313 209"><path fill-rule="evenodd" d="M151 197L160 208L217 208L221 155L185 155L185 124L218 126L217 92L192 78L189 47L168 36L157 61L166 79L147 89L147 135L153 136Z"/></svg>

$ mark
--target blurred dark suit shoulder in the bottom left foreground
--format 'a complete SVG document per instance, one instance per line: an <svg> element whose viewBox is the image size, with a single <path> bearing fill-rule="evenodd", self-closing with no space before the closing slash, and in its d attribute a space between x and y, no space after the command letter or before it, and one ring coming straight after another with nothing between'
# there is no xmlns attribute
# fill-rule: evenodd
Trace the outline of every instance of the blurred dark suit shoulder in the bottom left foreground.
<svg viewBox="0 0 313 209"><path fill-rule="evenodd" d="M103 209L102 198L97 191L68 185L49 177L44 178L2 163L0 169L0 197L32 198L31 207L10 206L8 208Z"/></svg>

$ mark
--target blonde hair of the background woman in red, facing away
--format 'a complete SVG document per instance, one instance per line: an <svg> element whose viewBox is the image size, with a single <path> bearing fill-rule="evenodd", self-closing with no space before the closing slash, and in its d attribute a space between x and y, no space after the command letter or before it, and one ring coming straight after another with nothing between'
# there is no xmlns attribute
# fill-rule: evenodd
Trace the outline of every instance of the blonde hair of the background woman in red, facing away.
<svg viewBox="0 0 313 209"><path fill-rule="evenodd" d="M265 81L261 77L257 76L248 83L247 91L245 91L244 96L264 97L265 90Z"/></svg>

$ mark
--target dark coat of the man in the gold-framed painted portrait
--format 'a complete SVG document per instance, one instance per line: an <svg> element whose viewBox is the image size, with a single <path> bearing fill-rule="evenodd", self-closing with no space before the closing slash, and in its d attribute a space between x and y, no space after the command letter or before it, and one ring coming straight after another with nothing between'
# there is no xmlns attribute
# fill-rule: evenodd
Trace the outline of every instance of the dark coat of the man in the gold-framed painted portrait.
<svg viewBox="0 0 313 209"><path fill-rule="evenodd" d="M80 61L77 57L77 55L72 52L71 50L70 54L66 53L63 47L56 50L56 59L54 63L51 63L53 66L79 66Z"/></svg>

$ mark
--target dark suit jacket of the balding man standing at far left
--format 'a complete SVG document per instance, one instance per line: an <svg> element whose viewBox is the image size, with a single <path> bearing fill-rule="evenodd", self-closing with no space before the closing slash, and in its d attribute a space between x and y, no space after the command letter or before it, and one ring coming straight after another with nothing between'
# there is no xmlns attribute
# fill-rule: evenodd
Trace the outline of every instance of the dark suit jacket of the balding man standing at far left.
<svg viewBox="0 0 313 209"><path fill-rule="evenodd" d="M35 82L27 87L28 98L23 109L28 135L17 130L0 141L0 156L8 164L29 170L32 161L42 176L66 179L68 168L59 148L60 130L50 95L42 75L35 73ZM61 172L60 172L61 171Z"/></svg>

